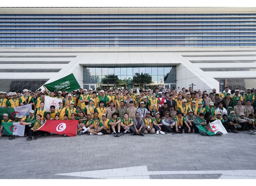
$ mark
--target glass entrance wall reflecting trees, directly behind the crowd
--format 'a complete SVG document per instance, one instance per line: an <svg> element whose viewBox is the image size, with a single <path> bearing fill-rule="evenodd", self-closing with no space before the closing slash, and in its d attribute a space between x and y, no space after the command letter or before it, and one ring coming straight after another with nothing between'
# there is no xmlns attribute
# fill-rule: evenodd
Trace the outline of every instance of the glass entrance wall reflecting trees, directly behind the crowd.
<svg viewBox="0 0 256 186"><path fill-rule="evenodd" d="M84 84L166 84L176 83L173 66L84 67Z"/></svg>

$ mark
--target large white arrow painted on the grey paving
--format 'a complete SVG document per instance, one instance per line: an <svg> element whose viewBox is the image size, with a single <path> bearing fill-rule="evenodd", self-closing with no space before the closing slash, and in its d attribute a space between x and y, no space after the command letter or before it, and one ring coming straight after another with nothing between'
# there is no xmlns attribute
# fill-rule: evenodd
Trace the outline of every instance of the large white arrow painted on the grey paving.
<svg viewBox="0 0 256 186"><path fill-rule="evenodd" d="M102 179L150 179L149 175L173 174L219 174L219 179L256 179L256 170L184 170L184 171L148 171L147 166L112 168L104 170L70 172L56 175L79 176Z"/></svg>

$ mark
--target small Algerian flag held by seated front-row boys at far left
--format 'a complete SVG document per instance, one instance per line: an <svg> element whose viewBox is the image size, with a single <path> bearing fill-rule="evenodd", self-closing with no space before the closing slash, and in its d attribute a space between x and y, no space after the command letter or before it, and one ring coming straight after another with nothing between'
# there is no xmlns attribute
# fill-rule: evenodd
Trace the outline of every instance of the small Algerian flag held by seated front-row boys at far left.
<svg viewBox="0 0 256 186"><path fill-rule="evenodd" d="M2 125L4 126L5 135L24 136L25 125L12 122L3 122Z"/></svg>

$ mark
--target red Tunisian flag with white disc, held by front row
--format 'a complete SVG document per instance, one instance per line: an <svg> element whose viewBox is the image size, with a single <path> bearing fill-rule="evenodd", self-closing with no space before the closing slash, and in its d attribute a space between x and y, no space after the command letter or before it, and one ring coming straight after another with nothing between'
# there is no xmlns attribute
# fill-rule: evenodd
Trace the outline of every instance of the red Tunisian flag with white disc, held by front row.
<svg viewBox="0 0 256 186"><path fill-rule="evenodd" d="M78 120L46 120L45 124L37 130L74 137L78 122Z"/></svg>

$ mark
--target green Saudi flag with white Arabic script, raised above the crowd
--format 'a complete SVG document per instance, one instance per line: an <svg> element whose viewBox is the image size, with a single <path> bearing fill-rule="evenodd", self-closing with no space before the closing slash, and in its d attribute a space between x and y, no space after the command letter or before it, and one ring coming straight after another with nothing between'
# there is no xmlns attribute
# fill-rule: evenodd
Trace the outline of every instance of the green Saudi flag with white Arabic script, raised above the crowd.
<svg viewBox="0 0 256 186"><path fill-rule="evenodd" d="M72 91L80 88L80 85L73 74L62 77L59 80L56 80L54 82L47 83L44 86L49 91L54 91L54 90Z"/></svg>

